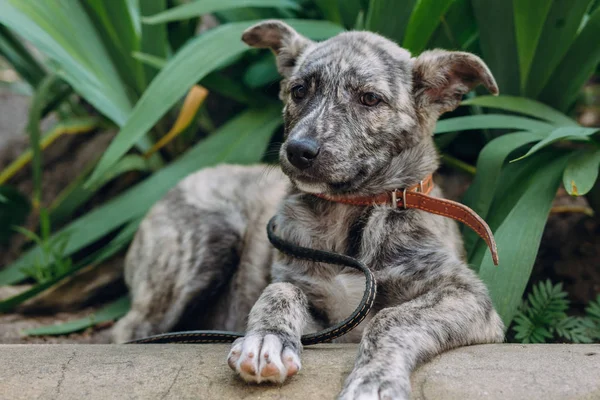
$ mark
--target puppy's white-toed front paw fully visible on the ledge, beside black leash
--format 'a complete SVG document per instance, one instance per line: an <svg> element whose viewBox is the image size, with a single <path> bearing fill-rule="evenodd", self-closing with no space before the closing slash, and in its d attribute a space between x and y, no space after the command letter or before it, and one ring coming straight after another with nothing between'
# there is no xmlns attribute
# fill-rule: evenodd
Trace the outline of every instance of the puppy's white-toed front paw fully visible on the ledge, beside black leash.
<svg viewBox="0 0 600 400"><path fill-rule="evenodd" d="M297 346L272 333L252 333L237 339L227 363L242 379L253 383L283 383L301 367Z"/></svg>

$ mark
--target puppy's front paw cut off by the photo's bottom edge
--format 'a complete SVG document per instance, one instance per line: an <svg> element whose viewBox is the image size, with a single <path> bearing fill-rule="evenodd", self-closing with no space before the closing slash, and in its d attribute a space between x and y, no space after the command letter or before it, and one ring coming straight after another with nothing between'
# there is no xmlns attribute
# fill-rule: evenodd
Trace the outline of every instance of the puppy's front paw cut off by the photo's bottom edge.
<svg viewBox="0 0 600 400"><path fill-rule="evenodd" d="M390 366L391 367L391 366ZM410 381L364 371L352 372L338 400L408 400Z"/></svg>

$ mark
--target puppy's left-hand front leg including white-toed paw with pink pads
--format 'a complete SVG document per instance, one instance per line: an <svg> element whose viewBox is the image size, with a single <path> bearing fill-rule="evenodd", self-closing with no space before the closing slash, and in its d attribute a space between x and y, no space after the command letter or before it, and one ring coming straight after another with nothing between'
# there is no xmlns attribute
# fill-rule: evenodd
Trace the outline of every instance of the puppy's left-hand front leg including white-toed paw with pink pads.
<svg viewBox="0 0 600 400"><path fill-rule="evenodd" d="M247 382L282 383L296 374L307 304L306 295L290 283L267 286L250 311L246 336L231 347L229 366Z"/></svg>

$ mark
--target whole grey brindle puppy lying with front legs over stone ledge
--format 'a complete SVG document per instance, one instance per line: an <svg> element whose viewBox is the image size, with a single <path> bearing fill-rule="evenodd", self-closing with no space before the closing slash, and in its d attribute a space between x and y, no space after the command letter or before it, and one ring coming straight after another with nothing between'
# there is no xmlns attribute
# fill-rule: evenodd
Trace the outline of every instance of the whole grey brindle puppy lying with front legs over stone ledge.
<svg viewBox="0 0 600 400"><path fill-rule="evenodd" d="M237 374L257 383L296 374L300 336L347 317L364 278L273 250L265 225L276 214L282 238L356 257L377 279L373 311L337 339L360 341L341 399L408 398L419 363L502 341L502 321L463 260L454 221L314 196L376 195L433 173L438 117L479 84L498 92L481 59L443 50L411 58L368 32L315 43L279 21L251 27L243 40L273 50L284 77L285 175L260 166L206 169L155 205L127 256L133 306L115 340L185 324L245 330L228 358Z"/></svg>

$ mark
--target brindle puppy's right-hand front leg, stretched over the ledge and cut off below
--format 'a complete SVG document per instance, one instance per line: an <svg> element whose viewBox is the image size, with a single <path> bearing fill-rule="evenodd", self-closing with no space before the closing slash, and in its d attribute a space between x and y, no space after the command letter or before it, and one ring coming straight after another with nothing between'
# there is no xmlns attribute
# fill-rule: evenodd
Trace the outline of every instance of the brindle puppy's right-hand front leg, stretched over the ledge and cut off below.
<svg viewBox="0 0 600 400"><path fill-rule="evenodd" d="M455 347L502 339L503 325L487 294L432 290L373 318L340 399L408 399L410 374L420 363Z"/></svg>

